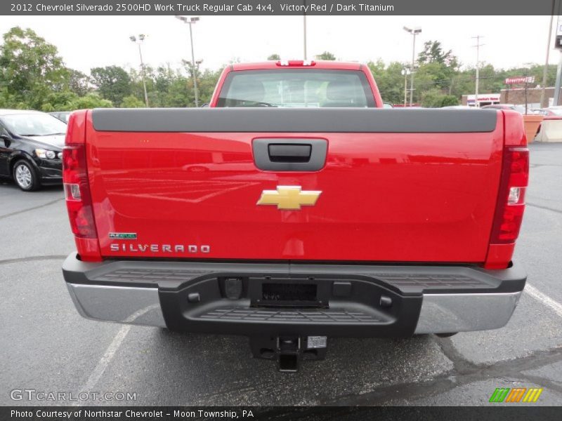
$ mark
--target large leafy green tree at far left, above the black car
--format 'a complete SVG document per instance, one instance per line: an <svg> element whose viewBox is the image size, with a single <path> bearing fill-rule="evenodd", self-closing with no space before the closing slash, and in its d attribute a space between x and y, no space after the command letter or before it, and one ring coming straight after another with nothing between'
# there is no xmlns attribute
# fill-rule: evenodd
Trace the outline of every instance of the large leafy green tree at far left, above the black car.
<svg viewBox="0 0 562 421"><path fill-rule="evenodd" d="M3 39L0 86L7 105L40 109L49 93L67 87L70 72L53 44L20 27L11 28Z"/></svg>

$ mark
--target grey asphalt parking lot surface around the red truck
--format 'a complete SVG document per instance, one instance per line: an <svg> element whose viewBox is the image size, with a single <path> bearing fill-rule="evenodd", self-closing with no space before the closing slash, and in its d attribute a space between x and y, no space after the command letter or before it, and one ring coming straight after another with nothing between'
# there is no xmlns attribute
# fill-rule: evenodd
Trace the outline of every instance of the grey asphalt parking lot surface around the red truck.
<svg viewBox="0 0 562 421"><path fill-rule="evenodd" d="M531 145L516 258L528 287L500 330L332 339L327 359L278 373L247 339L82 319L60 266L74 250L63 190L0 184L0 404L11 390L134 392L135 405L487 405L496 387L542 387L562 405L562 144ZM496 404L498 405L498 404Z"/></svg>

